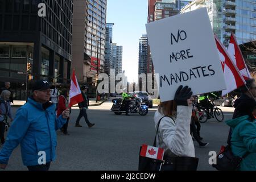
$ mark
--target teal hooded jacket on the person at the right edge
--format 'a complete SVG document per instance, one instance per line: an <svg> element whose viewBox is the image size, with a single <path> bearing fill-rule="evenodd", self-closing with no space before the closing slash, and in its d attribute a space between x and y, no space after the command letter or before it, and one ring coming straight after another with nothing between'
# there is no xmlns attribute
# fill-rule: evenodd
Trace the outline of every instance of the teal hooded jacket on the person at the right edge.
<svg viewBox="0 0 256 182"><path fill-rule="evenodd" d="M249 115L226 121L232 127L231 148L236 156L242 157L240 171L256 171L256 123L248 120Z"/></svg>

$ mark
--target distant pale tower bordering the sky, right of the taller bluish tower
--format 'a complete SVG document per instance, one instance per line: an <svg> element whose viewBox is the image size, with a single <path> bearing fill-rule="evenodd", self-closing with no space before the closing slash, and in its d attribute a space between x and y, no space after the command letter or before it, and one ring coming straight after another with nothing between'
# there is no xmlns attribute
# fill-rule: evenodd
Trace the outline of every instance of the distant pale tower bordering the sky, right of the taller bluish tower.
<svg viewBox="0 0 256 182"><path fill-rule="evenodd" d="M122 73L123 46L117 46L117 44L114 43L112 44L112 59L115 75Z"/></svg>

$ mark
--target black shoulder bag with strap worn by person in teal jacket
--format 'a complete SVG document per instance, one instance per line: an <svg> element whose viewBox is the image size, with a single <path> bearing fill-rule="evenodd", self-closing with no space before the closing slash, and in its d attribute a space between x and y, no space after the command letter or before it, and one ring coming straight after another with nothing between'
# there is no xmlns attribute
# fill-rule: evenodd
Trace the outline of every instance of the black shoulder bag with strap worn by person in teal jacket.
<svg viewBox="0 0 256 182"><path fill-rule="evenodd" d="M216 157L216 164L212 164L212 167L216 168L218 171L236 171L242 162L242 160L250 154L250 152L246 152L245 155L241 157L234 156L231 149L231 135L232 129L229 130L228 136L228 145L221 146L221 151Z"/></svg>

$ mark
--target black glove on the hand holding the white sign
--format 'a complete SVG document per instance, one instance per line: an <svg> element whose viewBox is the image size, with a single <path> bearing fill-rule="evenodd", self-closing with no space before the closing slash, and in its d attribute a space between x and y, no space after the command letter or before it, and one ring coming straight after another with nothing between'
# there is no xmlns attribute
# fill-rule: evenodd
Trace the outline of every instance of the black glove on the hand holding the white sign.
<svg viewBox="0 0 256 182"><path fill-rule="evenodd" d="M188 86L183 88L183 86L180 85L179 88L177 88L174 100L176 101L177 106L188 106L187 100L191 98L191 96L191 88L188 88Z"/></svg>

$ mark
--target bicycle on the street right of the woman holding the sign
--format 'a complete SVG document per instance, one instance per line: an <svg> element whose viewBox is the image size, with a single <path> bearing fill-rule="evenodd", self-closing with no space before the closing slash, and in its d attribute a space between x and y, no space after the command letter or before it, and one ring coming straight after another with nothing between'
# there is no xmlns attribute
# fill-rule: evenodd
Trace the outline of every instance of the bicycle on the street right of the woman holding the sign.
<svg viewBox="0 0 256 182"><path fill-rule="evenodd" d="M207 112L207 108L197 105L197 109L199 110L199 122L205 123L208 119L216 118L218 122L222 122L224 120L224 114L220 108L213 104L213 109L208 109L210 111Z"/></svg>

